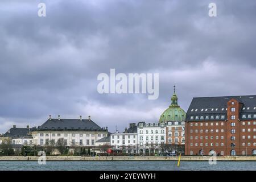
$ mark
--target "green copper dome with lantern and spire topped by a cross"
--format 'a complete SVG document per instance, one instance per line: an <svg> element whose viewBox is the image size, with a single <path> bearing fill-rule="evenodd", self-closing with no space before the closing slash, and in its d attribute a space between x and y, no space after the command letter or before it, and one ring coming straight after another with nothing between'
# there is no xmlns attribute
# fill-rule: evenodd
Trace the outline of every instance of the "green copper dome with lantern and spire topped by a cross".
<svg viewBox="0 0 256 182"><path fill-rule="evenodd" d="M169 121L185 121L186 113L180 106L177 104L177 95L175 93L172 95L171 101L172 104L166 109L163 114L160 116L159 123L167 123Z"/></svg>

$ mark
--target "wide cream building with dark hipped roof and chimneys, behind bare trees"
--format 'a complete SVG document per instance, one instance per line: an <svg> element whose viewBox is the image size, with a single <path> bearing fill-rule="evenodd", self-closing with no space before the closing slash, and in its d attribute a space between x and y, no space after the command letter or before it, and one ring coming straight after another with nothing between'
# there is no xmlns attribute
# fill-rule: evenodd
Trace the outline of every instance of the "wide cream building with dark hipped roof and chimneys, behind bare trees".
<svg viewBox="0 0 256 182"><path fill-rule="evenodd" d="M88 119L49 119L42 126L32 129L33 142L45 146L63 138L66 146L95 146L96 141L107 137L108 127L101 128Z"/></svg>

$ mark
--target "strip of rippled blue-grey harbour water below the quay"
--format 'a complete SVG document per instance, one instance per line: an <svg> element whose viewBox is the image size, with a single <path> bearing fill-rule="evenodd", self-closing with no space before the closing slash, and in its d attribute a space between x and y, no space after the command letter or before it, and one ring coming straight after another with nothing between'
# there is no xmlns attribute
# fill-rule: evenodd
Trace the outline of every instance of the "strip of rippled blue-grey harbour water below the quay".
<svg viewBox="0 0 256 182"><path fill-rule="evenodd" d="M176 170L256 170L256 162L217 162L210 165L208 162L46 162L39 165L38 162L0 162L0 170L152 170L152 171L176 171Z"/></svg>

